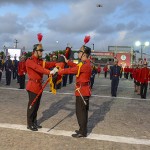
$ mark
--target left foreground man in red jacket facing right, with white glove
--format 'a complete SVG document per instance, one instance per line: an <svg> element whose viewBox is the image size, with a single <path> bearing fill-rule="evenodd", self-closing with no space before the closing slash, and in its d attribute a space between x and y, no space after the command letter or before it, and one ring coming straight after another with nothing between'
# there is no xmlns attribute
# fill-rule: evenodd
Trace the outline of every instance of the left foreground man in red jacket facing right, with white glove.
<svg viewBox="0 0 150 150"><path fill-rule="evenodd" d="M42 126L37 124L37 111L40 105L42 93L31 109L29 106L42 88L43 74L55 74L55 68L52 71L50 71L49 68L54 67L56 62L43 61L41 59L42 52L42 44L35 44L33 46L33 55L26 60L26 70L29 78L26 85L26 90L29 95L29 102L27 107L27 128L32 131L37 131L38 128L42 128Z"/></svg>

